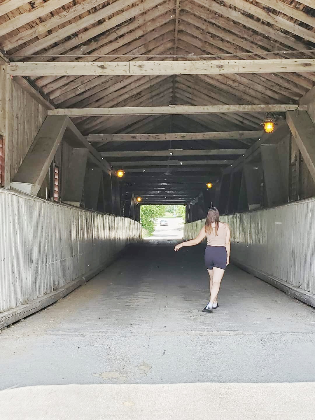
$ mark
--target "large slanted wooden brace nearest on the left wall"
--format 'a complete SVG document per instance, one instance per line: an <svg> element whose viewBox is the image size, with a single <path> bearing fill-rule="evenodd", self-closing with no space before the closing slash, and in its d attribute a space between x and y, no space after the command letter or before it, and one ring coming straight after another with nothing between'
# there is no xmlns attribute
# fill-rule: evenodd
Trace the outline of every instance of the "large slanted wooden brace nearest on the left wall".
<svg viewBox="0 0 315 420"><path fill-rule="evenodd" d="M68 119L65 116L49 115L45 119L13 182L11 182L11 187L37 195L67 125Z"/></svg>

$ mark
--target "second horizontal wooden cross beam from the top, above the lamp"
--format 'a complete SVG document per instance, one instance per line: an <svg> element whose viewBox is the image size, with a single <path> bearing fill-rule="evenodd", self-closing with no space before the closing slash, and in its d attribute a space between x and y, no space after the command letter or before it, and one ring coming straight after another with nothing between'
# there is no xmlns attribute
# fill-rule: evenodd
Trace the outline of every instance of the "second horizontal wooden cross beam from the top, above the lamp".
<svg viewBox="0 0 315 420"><path fill-rule="evenodd" d="M99 117L108 115L183 115L183 114L218 114L238 112L287 112L305 111L306 105L169 105L123 108L58 108L48 110L48 115L68 115L69 117Z"/></svg>

